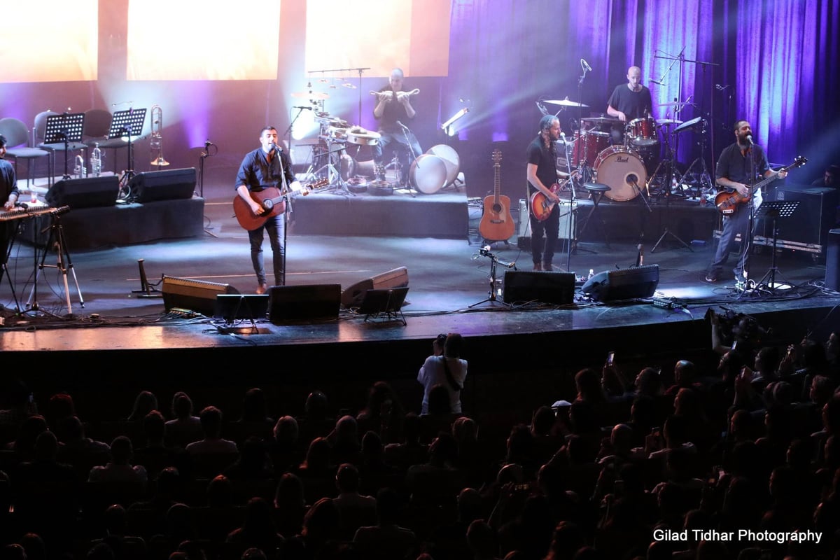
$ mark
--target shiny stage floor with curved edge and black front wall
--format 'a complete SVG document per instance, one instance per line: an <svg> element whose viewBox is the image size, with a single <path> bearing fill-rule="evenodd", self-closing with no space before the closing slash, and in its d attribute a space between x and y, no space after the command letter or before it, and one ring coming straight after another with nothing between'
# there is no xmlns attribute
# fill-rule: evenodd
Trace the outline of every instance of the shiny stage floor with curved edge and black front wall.
<svg viewBox="0 0 840 560"><path fill-rule="evenodd" d="M428 355L431 340L438 332L460 332L467 338L472 382L479 384L468 387L470 406L480 409L495 399L494 406L509 402L518 408L568 399L574 372L601 364L607 349L632 368L655 363L669 369L675 356L711 367L716 358L704 320L710 308L757 317L771 328L768 343L788 343L806 332L822 339L837 323L832 309L840 296L822 289L825 266L815 254L777 252L777 280L795 285L790 290L739 294L732 289L733 280L706 284L702 278L711 259L711 230L704 236L708 240L692 238L687 246L666 236L653 254L650 249L657 239L645 236L643 265L655 264L659 272L654 298L587 301L578 290L563 305L538 301L511 305L502 301L505 274L529 271L530 253L517 248L517 235L507 243L480 239L475 232L480 207L464 193L416 198L395 193L389 200L375 201L377 206L403 205L402 221L411 222L405 231L414 236L377 232L371 217L365 218L370 228L360 232L370 235L312 233L320 226L312 217L304 225L303 217L330 211L307 214L304 205L295 202L287 239L286 284L339 284L344 289L404 266L409 288L407 305L402 307L405 326L395 317L365 317L348 309L327 321L273 324L262 319L234 325L194 313L166 312L162 298L155 297L160 296L162 275L228 284L243 294L254 293L256 287L247 233L233 216L232 192L219 187L205 194L204 229L198 236L72 250L69 306L62 275L55 268L40 271L34 293L34 249L18 243L9 262L18 302L9 280L4 278L0 286L0 301L6 308L0 331L6 371L27 371L29 381L44 392L64 387L102 397L111 391L120 395L113 406L126 406L125 400L139 389L151 387L165 394L194 385L197 379L206 381L202 391L207 399L211 395L230 399L245 385L270 386L276 398L296 404L313 387L333 391L354 387L359 390L353 394L363 399L364 386L375 379L389 379L411 399L416 396L417 368ZM460 201L449 200L454 196ZM334 211L365 203L364 197L337 194L306 197L313 210L318 209L315 205ZM441 204L453 206L449 212L459 207L459 236L436 235L417 225L428 224L428 215ZM628 208L619 206L612 212L627 215ZM684 212L698 212L696 208ZM386 212L376 223L390 220L391 212ZM615 221L609 218L609 222ZM597 230L593 233L580 239L574 254L567 251L567 243L559 245L554 259L557 272L586 276L590 270L598 273L637 264L638 238L628 241L615 235L607 247ZM761 279L771 257L769 249L757 249L750 259L751 277ZM491 292L494 259L496 284ZM50 253L45 264L55 260ZM137 293L141 264L151 285L149 294ZM266 265L270 270L270 250ZM31 309L33 303L38 311ZM29 311L16 313L16 306ZM527 385L522 385L523 379L528 379Z"/></svg>

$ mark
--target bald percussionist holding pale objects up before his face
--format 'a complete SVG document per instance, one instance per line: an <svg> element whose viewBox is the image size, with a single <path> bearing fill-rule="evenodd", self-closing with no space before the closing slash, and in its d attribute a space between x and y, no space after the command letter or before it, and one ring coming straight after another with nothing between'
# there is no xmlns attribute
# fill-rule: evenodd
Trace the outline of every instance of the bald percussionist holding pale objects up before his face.
<svg viewBox="0 0 840 560"><path fill-rule="evenodd" d="M416 112L412 107L412 94L402 90L402 78L402 70L395 68L388 78L388 85L376 94L373 116L379 121L381 137L379 143L373 146L373 159L380 169L383 165L383 149L392 142L402 144L412 151L410 160L402 162L403 165L410 165L417 156L423 154L417 137L407 127L407 123L414 118Z"/></svg>

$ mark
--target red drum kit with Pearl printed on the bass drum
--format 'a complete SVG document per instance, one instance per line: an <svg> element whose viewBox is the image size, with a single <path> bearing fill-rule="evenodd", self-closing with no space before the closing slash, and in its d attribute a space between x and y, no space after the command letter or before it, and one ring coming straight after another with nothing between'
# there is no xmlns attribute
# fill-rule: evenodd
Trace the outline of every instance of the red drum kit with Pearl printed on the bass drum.
<svg viewBox="0 0 840 560"><path fill-rule="evenodd" d="M588 107L568 99L543 100L543 103ZM660 107L664 106L673 107L675 103L664 103ZM685 106L685 103L679 103L679 106ZM562 191L574 188L575 179L609 186L610 190L604 196L616 202L632 201L643 191L649 196L654 185L669 190L664 176L664 165L672 163L669 137L693 128L694 121L683 123L675 118L643 117L622 123L617 118L603 115L580 118L580 130L565 141L567 157L559 158L557 163L558 174L563 178ZM613 131L623 131L622 143L615 143L614 138L619 134ZM664 160L661 157L663 144L667 148Z"/></svg>

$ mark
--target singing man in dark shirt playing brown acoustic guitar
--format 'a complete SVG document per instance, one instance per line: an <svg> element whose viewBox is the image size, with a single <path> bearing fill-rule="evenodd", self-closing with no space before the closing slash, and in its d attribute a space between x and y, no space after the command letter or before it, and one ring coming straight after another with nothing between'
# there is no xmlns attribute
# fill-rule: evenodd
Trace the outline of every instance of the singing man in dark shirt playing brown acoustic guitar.
<svg viewBox="0 0 840 560"><path fill-rule="evenodd" d="M251 245L251 264L257 275L256 293L265 294L268 280L265 276L263 238L268 233L274 261L276 285L286 284L286 201L270 210L260 204L259 193L269 188L280 191L299 190L300 183L291 172L291 160L286 151L277 145L277 129L267 126L260 131L260 148L245 154L236 175L236 194L247 204L256 217L268 214L265 222L248 232ZM254 193L255 196L251 196Z"/></svg>

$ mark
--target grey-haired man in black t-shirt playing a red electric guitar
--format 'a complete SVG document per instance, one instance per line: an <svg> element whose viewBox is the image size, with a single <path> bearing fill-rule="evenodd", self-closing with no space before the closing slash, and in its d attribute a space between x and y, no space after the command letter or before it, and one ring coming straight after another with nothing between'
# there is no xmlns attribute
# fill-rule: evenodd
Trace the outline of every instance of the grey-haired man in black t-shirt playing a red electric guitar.
<svg viewBox="0 0 840 560"><path fill-rule="evenodd" d="M539 121L537 138L528 144L528 200L539 191L553 203L549 217L539 220L534 212L531 216L531 257L533 270L552 270L554 247L560 229L559 196L551 190L557 182L557 152L554 144L560 138L560 121L554 115L545 115ZM545 238L543 239L543 234Z"/></svg>

